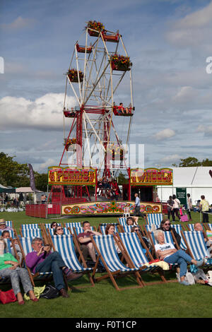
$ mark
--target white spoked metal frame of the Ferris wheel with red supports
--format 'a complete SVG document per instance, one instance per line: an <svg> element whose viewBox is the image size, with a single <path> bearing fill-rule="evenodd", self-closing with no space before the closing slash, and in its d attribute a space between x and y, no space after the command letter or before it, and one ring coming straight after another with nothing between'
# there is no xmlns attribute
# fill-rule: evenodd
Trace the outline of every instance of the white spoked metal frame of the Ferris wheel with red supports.
<svg viewBox="0 0 212 332"><path fill-rule="evenodd" d="M93 165L93 155L96 149L102 148L102 159L99 162L98 176L102 171L102 176L114 177L115 172L119 168L128 168L124 159L120 163L120 167L115 167L108 163L107 153L108 147L116 144L122 148L122 140L119 138L117 129L113 121L114 115L114 95L120 86L120 83L129 73L126 79L129 85L129 96L131 113L129 115L129 124L126 135L126 145L129 143L131 121L134 113L133 101L133 86L132 86L132 72L130 63L129 69L126 71L115 71L112 68L112 56L118 54L119 49L122 49L125 57L129 57L126 52L126 47L122 40L122 35L117 32L109 30L98 31L86 27L83 32L83 47L79 46L79 40L74 45L73 54L69 65L69 71L76 66L76 80L70 78L69 71L66 73L66 87L64 94L64 109L66 110L66 99L68 95L68 88L71 87L74 97L78 102L78 107L75 107L71 118L73 119L71 129L66 138L66 116L64 115L64 151L61 155L59 166L70 165L73 167L96 167ZM88 45L90 40L93 43ZM110 50L111 48L111 50ZM84 57L81 57L84 54ZM83 79L81 76L83 70ZM65 112L64 112L65 114ZM127 118L126 118L127 119ZM71 135L75 131L75 143L67 148L67 141L70 141ZM113 141L112 141L113 139ZM93 143L93 149L90 149L90 143ZM72 155L69 155L69 152ZM66 153L66 160L69 162L63 163ZM88 165L86 162L86 155L89 157Z"/></svg>

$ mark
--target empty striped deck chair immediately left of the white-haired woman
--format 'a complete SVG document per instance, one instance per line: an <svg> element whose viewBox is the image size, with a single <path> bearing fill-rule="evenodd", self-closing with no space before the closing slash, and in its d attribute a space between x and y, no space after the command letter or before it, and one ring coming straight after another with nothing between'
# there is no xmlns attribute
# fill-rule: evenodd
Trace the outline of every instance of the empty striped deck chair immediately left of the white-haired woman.
<svg viewBox="0 0 212 332"><path fill-rule="evenodd" d="M158 266L149 266L148 259L146 254L144 254L143 249L148 252L148 255L151 260L153 260L153 256L148 251L146 244L143 242L142 237L139 237L135 232L133 233L119 233L117 238L122 243L122 247L126 249L127 254L133 263L135 268L140 269L140 273L159 273L162 281L156 283L165 283L167 280L163 274L163 271ZM142 245L141 245L142 243ZM143 247L142 247L143 246ZM148 283L148 285L153 285L153 283Z"/></svg>

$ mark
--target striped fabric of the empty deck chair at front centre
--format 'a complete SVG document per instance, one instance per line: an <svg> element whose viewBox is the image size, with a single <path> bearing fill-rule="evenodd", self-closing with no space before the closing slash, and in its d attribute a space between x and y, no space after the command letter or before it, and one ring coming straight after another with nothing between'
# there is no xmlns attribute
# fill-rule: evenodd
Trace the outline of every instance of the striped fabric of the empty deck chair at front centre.
<svg viewBox="0 0 212 332"><path fill-rule="evenodd" d="M95 235L93 236L93 240L95 241L95 244L98 247L102 258L104 259L107 268L109 268L111 272L129 272L139 270L138 268L128 268L122 263L122 261L120 261L112 235ZM101 260L100 262L102 263ZM103 263L102 266L104 266Z"/></svg>

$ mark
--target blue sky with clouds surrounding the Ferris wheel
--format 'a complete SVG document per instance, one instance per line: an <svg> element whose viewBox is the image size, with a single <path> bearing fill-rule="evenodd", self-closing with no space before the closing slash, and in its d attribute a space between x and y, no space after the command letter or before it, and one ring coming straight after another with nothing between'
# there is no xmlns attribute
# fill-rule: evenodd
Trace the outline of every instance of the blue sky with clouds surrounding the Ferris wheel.
<svg viewBox="0 0 212 332"><path fill-rule="evenodd" d="M59 165L64 73L86 22L98 20L119 30L133 63L129 143L144 145L144 167L211 160L211 17L211 0L0 0L1 151L37 172Z"/></svg>

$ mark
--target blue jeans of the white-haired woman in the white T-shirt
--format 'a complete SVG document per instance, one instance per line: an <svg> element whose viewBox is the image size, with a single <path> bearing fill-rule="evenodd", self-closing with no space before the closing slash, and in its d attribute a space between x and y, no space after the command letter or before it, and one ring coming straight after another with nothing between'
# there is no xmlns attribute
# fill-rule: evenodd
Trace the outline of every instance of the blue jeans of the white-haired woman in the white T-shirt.
<svg viewBox="0 0 212 332"><path fill-rule="evenodd" d="M163 259L170 264L179 264L179 277L183 277L187 274L187 261L191 263L192 257L185 253L182 249L177 250L174 254Z"/></svg>

